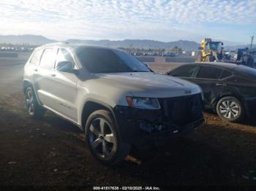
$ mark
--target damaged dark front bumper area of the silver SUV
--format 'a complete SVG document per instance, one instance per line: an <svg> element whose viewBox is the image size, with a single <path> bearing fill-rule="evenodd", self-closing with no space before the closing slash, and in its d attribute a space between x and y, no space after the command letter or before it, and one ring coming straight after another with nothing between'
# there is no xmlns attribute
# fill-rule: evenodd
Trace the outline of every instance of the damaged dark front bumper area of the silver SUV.
<svg viewBox="0 0 256 191"><path fill-rule="evenodd" d="M118 131L124 142L140 146L145 144L146 141L167 141L176 136L187 134L203 125L204 118L201 103L197 103L198 108L185 106L186 115L182 111L181 103L177 102L176 108L174 104L165 104L165 101L160 102L161 109L115 107L114 113ZM171 102L176 103L175 100L171 100Z"/></svg>

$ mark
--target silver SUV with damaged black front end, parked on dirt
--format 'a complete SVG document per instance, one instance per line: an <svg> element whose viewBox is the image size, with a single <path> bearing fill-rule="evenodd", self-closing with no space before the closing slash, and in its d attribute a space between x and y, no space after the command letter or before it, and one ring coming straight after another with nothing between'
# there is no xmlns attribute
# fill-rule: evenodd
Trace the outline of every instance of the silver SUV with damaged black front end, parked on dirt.
<svg viewBox="0 0 256 191"><path fill-rule="evenodd" d="M24 67L23 90L32 117L48 109L75 123L102 163L124 159L131 145L172 139L204 121L200 87L156 74L108 47L37 47Z"/></svg>

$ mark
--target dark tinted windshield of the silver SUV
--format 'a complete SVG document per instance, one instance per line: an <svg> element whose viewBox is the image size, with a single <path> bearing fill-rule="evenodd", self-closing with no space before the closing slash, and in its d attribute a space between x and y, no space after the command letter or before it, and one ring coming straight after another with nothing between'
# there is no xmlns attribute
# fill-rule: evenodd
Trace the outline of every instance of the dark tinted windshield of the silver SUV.
<svg viewBox="0 0 256 191"><path fill-rule="evenodd" d="M91 73L151 72L132 55L119 50L97 47L77 47L80 63Z"/></svg>

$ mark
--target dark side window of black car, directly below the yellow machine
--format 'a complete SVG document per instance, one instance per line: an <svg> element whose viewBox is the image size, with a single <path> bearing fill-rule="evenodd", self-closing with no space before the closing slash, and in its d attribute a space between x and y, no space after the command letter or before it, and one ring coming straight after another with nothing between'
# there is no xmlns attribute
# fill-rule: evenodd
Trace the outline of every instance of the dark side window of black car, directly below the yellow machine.
<svg viewBox="0 0 256 191"><path fill-rule="evenodd" d="M202 66L197 73L197 78L219 79L222 69L211 66Z"/></svg>

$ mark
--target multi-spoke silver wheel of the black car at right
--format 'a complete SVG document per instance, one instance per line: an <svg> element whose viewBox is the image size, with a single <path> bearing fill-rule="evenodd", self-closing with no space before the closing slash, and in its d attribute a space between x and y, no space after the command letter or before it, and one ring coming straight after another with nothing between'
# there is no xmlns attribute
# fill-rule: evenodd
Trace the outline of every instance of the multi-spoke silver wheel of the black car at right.
<svg viewBox="0 0 256 191"><path fill-rule="evenodd" d="M224 97L217 103L217 114L223 120L238 122L244 118L244 106L235 97Z"/></svg>

